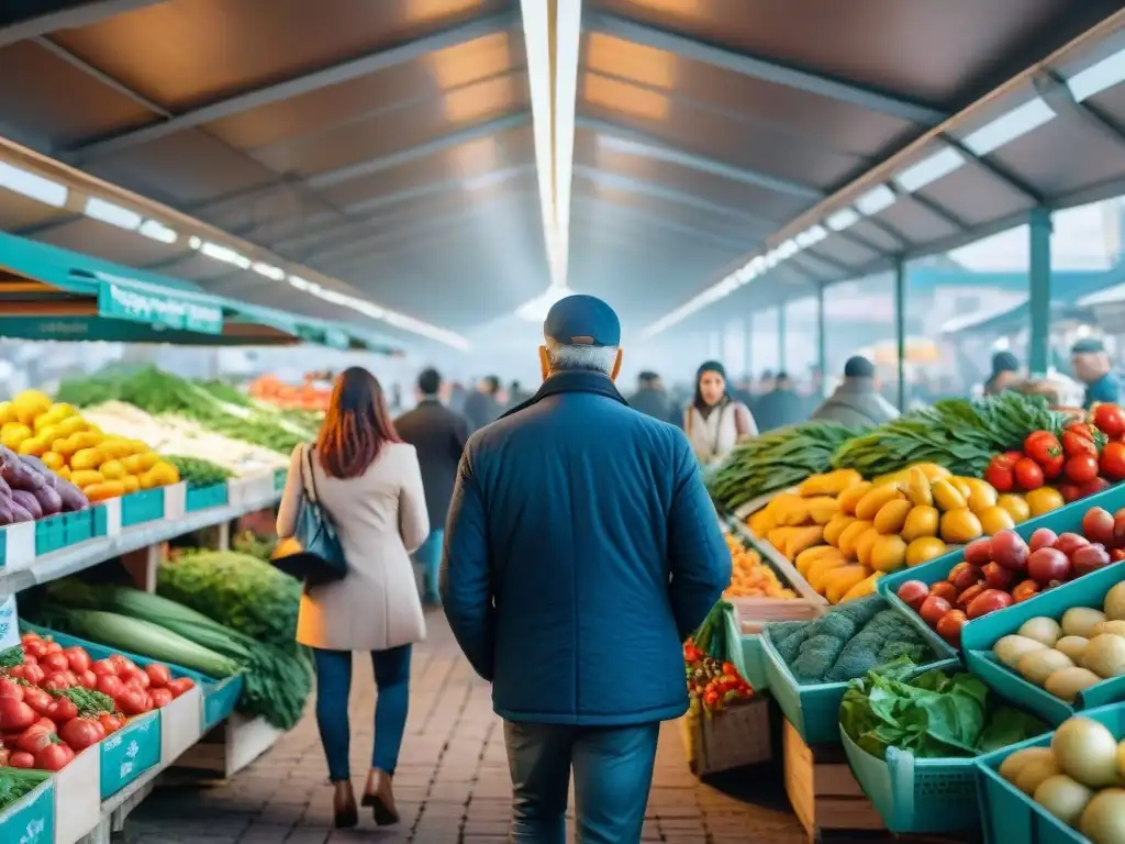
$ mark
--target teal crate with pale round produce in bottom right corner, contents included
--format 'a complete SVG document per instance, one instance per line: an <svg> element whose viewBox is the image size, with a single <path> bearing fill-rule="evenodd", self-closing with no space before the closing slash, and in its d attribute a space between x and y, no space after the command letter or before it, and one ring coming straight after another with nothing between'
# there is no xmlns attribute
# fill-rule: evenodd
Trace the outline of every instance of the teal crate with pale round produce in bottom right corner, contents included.
<svg viewBox="0 0 1125 844"><path fill-rule="evenodd" d="M978 760L988 844L1125 841L1125 707L1091 709Z"/></svg>

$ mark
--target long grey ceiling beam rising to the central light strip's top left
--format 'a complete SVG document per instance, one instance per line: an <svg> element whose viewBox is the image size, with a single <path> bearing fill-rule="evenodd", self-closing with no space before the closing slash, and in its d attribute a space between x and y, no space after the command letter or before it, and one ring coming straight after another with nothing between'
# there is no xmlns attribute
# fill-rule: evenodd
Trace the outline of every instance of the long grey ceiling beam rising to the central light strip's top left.
<svg viewBox="0 0 1125 844"><path fill-rule="evenodd" d="M405 64L439 50L504 32L512 28L515 21L516 16L514 12L502 12L470 20L466 24L443 29L388 50L369 53L359 59L322 68L321 70L295 77L294 79L276 82L244 93L237 93L233 97L148 124L147 126L80 144L70 150L66 158L72 162L87 163L205 123L220 120L225 117L242 114L243 111L268 106L271 102L292 99L294 97L318 91L328 86L340 84L341 82L348 82L352 79Z"/></svg>

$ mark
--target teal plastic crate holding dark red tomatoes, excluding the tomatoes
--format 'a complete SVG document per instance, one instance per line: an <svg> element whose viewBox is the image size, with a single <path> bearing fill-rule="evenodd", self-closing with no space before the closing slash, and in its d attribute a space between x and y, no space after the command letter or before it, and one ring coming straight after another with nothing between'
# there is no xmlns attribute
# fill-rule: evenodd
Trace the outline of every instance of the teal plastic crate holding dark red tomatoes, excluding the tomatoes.
<svg viewBox="0 0 1125 844"><path fill-rule="evenodd" d="M1066 531L1081 533L1082 517L1086 515L1087 511L1091 508L1098 506L1108 510L1110 513L1115 513L1120 508L1125 506L1125 484L1112 486L1097 495L1091 495L1088 499L1072 502L1066 506L1060 508L1059 510L1054 510L1050 513L1044 513L1035 519L1028 519L1023 524L1016 526L1016 532L1024 539L1029 539L1032 533L1040 528L1050 528L1055 533L1065 533ZM937 559L933 559L924 565L907 568L879 578L879 593L883 595L883 598L885 598L897 610L904 612L915 627L925 634L927 641L934 646L934 649L943 656L957 656L958 652L950 646L948 643L946 643L934 630L932 630L929 626L921 620L921 617L918 616L917 612L902 603L896 593L898 592L899 586L907 581L921 581L926 584L944 581L948 576L952 568L957 563L961 563L962 559L964 559L964 550L962 548L957 548L956 550L951 551L950 554L944 554ZM1046 593L1028 599L1019 605L1037 605L1036 602L1042 600L1045 594ZM993 618L996 616L1002 617L1011 611L1011 608L1000 610L999 612L989 613L986 618ZM1034 614L1045 616L1047 613L1037 611ZM966 632L973 627L973 625L978 625L982 620L983 619L975 619L965 625L961 634L962 647L965 646Z"/></svg>

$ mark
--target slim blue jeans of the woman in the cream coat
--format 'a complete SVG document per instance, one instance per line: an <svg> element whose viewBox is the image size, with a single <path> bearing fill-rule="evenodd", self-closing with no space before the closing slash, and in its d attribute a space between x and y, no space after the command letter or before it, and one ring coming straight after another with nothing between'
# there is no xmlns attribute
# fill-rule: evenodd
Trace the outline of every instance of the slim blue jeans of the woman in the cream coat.
<svg viewBox="0 0 1125 844"><path fill-rule="evenodd" d="M333 782L344 782L350 779L348 695L351 692L352 652L313 648L313 662L316 664L316 726L328 761L328 776ZM394 774L411 702L411 646L372 650L371 663L379 690L375 703L371 767Z"/></svg>

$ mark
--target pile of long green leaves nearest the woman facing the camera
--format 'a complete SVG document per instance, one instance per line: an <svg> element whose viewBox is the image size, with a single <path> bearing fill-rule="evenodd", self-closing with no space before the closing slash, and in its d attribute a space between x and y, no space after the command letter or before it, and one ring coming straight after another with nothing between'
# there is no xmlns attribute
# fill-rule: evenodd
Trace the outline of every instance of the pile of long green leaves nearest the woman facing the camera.
<svg viewBox="0 0 1125 844"><path fill-rule="evenodd" d="M712 497L728 512L828 472L832 454L862 432L836 422L804 422L735 448L711 477Z"/></svg>

